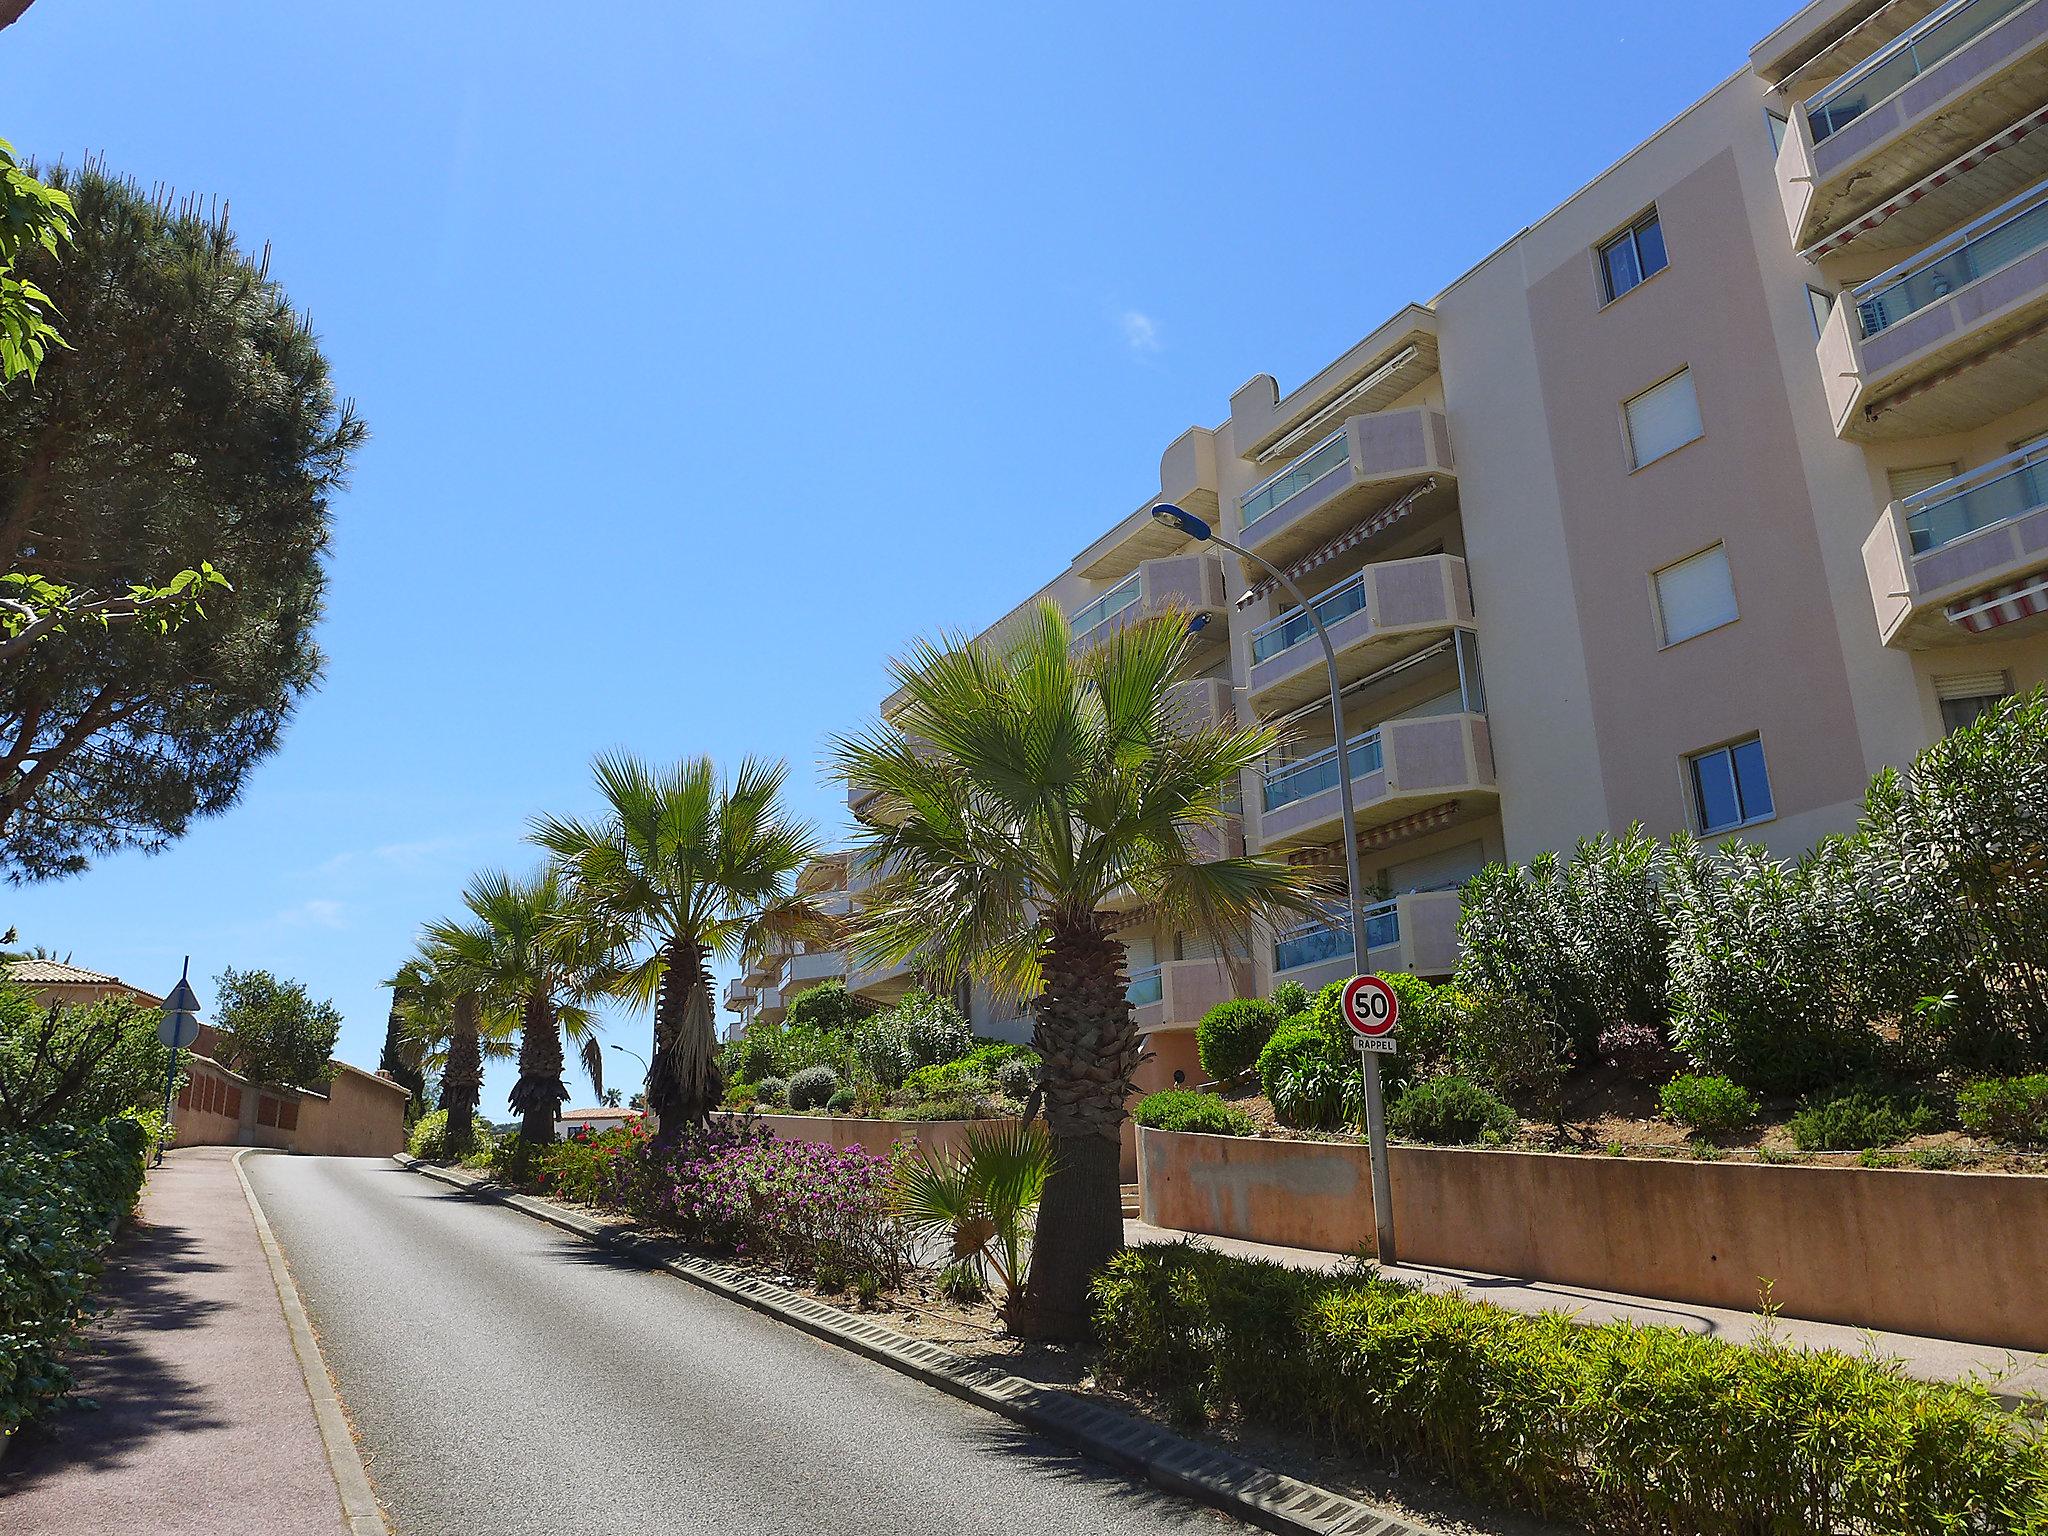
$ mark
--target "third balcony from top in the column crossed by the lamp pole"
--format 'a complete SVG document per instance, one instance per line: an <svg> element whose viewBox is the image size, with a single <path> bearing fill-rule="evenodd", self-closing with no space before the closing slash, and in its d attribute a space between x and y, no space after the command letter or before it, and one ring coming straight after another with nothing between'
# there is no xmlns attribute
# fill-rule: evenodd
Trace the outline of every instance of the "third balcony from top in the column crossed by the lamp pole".
<svg viewBox="0 0 2048 1536"><path fill-rule="evenodd" d="M1495 801L1493 741L1479 713L1395 719L1350 741L1358 827L1376 827L1446 799ZM1268 768L1260 846L1294 848L1341 836L1337 750Z"/></svg>

